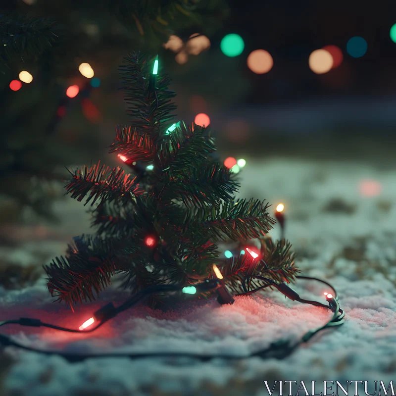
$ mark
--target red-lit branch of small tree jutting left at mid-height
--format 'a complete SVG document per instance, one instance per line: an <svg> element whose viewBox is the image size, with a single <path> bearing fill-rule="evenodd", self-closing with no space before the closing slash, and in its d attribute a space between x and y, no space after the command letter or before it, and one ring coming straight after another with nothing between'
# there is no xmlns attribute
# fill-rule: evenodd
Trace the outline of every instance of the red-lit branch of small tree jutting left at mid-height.
<svg viewBox="0 0 396 396"><path fill-rule="evenodd" d="M100 161L90 168L85 166L81 170L76 170L74 175L71 172L70 174L73 178L65 187L66 194L71 194L71 198L77 198L78 201L82 201L89 194L85 205L92 198L94 199L91 205L99 198L107 202L115 199L130 201L144 193L135 184L135 178L130 179L129 173L118 167L113 169L105 165L100 167Z"/></svg>

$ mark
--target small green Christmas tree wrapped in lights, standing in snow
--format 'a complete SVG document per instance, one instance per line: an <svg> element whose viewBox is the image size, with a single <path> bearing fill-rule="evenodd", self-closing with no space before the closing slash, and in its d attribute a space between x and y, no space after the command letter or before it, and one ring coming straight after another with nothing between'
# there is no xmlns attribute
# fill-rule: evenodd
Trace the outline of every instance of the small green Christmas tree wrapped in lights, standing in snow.
<svg viewBox="0 0 396 396"><path fill-rule="evenodd" d="M233 197L239 184L215 161L207 128L173 123L176 94L168 90L169 77L157 74L158 60L141 53L124 60L131 125L116 128L110 152L135 176L100 162L71 173L67 193L91 203L97 234L74 238L66 257L45 267L52 296L70 306L95 299L119 272L133 293L164 283L193 285L214 277L213 263L233 292L242 292L248 274L292 281L298 270L290 244L265 238L275 223L268 204ZM238 252L221 259L218 243Z"/></svg>

